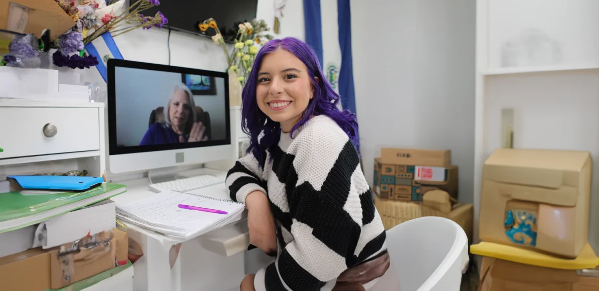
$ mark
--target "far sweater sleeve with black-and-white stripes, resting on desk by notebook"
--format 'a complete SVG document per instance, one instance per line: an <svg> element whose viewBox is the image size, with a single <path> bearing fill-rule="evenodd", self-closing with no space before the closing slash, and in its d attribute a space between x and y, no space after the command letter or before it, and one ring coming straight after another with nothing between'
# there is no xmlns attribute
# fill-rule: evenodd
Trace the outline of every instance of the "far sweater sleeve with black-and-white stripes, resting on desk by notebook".
<svg viewBox="0 0 599 291"><path fill-rule="evenodd" d="M235 162L235 166L229 170L225 180L231 200L246 203L247 195L254 191L266 194L262 175L263 171L258 165L258 160L252 154Z"/></svg>

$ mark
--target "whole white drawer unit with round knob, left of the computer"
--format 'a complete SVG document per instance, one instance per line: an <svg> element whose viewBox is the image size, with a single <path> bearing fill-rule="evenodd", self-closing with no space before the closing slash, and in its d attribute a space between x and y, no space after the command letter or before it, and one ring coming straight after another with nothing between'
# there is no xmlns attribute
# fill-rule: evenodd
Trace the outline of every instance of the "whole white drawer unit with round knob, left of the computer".
<svg viewBox="0 0 599 291"><path fill-rule="evenodd" d="M105 174L104 103L0 98L0 180L10 174Z"/></svg>

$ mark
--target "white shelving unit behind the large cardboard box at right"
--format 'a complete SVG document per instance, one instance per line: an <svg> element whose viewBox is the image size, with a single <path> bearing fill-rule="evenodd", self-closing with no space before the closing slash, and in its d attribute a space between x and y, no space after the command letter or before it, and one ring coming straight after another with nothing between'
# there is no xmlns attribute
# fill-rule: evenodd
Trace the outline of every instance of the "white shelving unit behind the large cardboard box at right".
<svg viewBox="0 0 599 291"><path fill-rule="evenodd" d="M589 241L599 250L599 1L477 0L476 10L475 242L483 163L513 109L514 148L591 152Z"/></svg>

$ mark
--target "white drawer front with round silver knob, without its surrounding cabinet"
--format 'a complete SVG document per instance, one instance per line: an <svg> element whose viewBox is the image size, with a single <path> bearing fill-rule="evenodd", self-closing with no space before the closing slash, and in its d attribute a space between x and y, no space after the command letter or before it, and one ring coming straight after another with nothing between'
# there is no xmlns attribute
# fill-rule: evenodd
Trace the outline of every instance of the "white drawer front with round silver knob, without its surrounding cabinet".
<svg viewBox="0 0 599 291"><path fill-rule="evenodd" d="M0 158L100 149L98 108L0 107Z"/></svg>

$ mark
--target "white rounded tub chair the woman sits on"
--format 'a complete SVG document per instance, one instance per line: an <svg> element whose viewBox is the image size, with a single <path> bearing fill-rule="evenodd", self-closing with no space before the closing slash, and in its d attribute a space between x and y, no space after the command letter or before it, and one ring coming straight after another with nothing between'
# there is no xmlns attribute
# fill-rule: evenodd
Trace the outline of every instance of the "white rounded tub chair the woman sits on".
<svg viewBox="0 0 599 291"><path fill-rule="evenodd" d="M468 238L458 223L426 216L387 231L389 271L373 291L459 291ZM399 285L399 287L398 287Z"/></svg>

